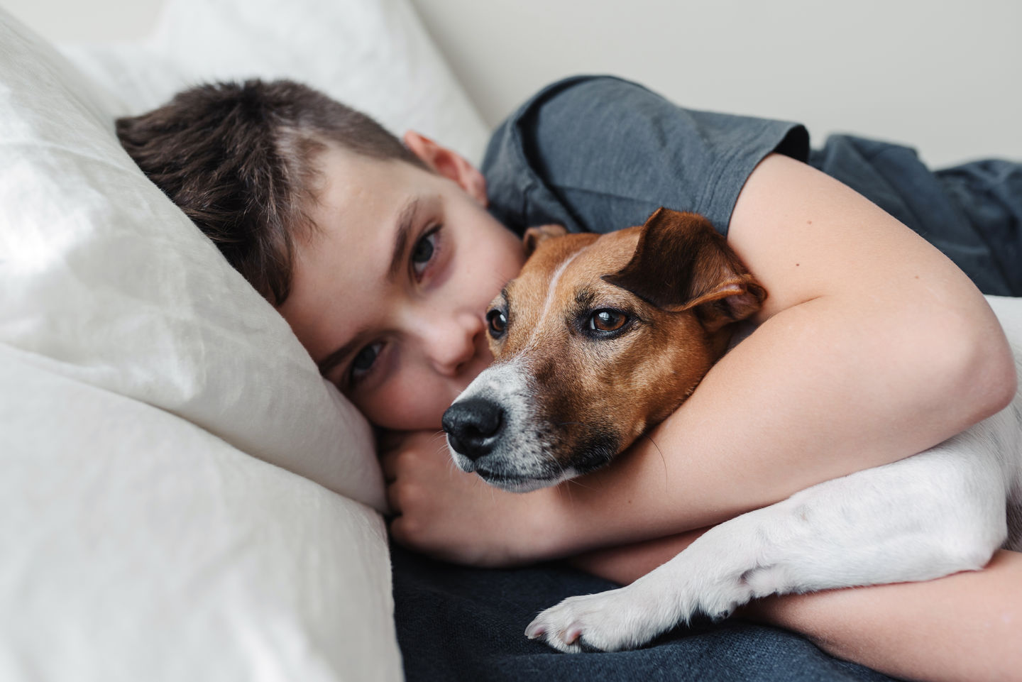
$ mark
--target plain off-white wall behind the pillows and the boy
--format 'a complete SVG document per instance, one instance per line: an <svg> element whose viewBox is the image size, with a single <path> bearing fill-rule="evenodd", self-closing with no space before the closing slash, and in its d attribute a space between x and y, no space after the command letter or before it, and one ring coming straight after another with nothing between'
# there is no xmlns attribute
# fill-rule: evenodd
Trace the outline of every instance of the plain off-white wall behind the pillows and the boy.
<svg viewBox="0 0 1022 682"><path fill-rule="evenodd" d="M160 0L0 0L53 40L144 35ZM696 108L1022 160L1020 0L411 0L496 125L575 73Z"/></svg>

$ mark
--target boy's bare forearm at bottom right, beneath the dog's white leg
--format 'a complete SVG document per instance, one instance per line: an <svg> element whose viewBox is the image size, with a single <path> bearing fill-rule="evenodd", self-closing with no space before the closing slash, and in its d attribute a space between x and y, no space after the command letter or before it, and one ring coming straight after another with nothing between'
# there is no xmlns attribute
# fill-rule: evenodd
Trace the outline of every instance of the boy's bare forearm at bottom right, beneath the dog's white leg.
<svg viewBox="0 0 1022 682"><path fill-rule="evenodd" d="M1022 554L983 571L770 597L745 616L794 630L840 658L930 682L1022 680Z"/></svg>

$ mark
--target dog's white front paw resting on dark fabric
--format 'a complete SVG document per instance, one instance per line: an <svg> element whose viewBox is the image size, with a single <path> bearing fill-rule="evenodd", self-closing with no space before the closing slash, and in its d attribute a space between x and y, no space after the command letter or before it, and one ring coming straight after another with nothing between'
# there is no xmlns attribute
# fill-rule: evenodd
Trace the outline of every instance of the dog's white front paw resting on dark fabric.
<svg viewBox="0 0 1022 682"><path fill-rule="evenodd" d="M656 601L631 587L568 597L540 613L525 636L567 653L635 648L678 623L677 613Z"/></svg>

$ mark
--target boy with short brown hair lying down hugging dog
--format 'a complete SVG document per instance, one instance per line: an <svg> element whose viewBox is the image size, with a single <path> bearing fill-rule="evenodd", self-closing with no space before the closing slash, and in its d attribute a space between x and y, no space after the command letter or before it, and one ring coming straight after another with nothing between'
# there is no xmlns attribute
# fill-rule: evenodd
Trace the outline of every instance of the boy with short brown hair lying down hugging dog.
<svg viewBox="0 0 1022 682"><path fill-rule="evenodd" d="M576 559L634 580L691 539L677 534L924 450L1015 390L979 290L904 225L941 241L986 292L1022 292L1009 251L1017 255L1022 189L1000 202L977 190L984 174L1003 176L986 183L991 192L1018 183L1011 165L936 175L902 147L853 138L810 158L799 126L681 109L610 78L541 92L499 129L482 173L416 133L403 146L288 83L199 88L118 130L323 374L372 422L403 434L383 457L400 513L391 531L437 556L501 565L650 541ZM650 439L577 484L515 496L451 471L439 416L489 363L482 316L522 263L505 226L603 232L641 224L659 206L702 213L727 235L770 291L757 330ZM991 249L995 230L1006 245ZM1020 574L1003 552L971 578L998 594L998 581ZM950 583L961 578L930 589L961 594ZM756 608L894 674L954 671L940 658L953 639L947 615L905 610L913 599L896 596L899 587L909 589L850 592L895 595L898 612L935 624L933 650L903 646L908 633L870 596L850 623L811 601L806 615L797 597ZM951 618L997 627L972 605ZM879 645L858 648L878 633ZM978 661L1011 665L1009 641L1007 632L985 638L962 672L975 675Z"/></svg>

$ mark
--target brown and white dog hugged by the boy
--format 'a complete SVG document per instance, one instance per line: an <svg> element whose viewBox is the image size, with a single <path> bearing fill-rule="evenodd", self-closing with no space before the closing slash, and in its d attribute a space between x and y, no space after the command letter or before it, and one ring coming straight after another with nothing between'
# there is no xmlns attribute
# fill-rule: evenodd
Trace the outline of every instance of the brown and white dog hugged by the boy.
<svg viewBox="0 0 1022 682"><path fill-rule="evenodd" d="M529 491L604 466L673 412L766 291L709 222L665 209L643 226L533 228L486 314L495 363L444 414L456 464ZM1022 307L991 304L1020 365ZM723 522L635 583L569 597L525 635L567 652L641 646L750 599L923 581L1022 550L1022 396L907 459Z"/></svg>

